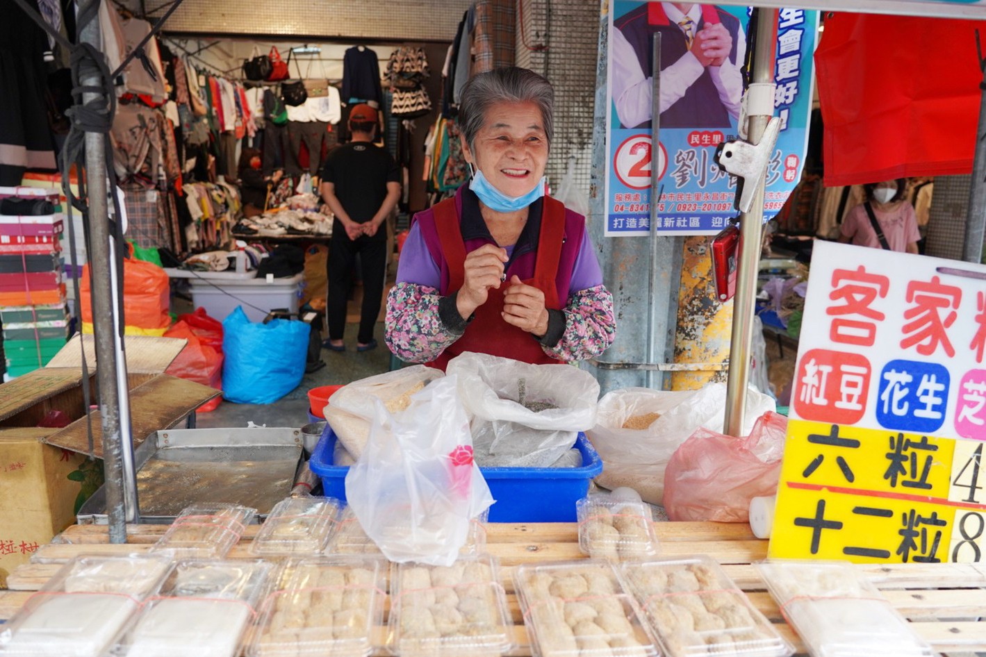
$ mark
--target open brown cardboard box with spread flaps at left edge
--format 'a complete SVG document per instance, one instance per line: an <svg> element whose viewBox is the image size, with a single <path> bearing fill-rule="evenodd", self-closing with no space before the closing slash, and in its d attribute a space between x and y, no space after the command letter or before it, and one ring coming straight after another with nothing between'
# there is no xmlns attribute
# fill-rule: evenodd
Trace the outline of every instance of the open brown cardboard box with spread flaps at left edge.
<svg viewBox="0 0 986 657"><path fill-rule="evenodd" d="M176 427L189 413L222 394L162 373L185 342L125 338L135 449L155 431ZM97 460L90 460L86 456L90 436L82 388L83 359L90 375L90 403L97 404L97 362L91 335L76 335L46 366L0 384L0 587L8 572L28 561L35 544L43 545L72 524L77 504L99 488L103 427L100 412L94 410L91 454ZM51 411L61 411L71 424L37 428Z"/></svg>

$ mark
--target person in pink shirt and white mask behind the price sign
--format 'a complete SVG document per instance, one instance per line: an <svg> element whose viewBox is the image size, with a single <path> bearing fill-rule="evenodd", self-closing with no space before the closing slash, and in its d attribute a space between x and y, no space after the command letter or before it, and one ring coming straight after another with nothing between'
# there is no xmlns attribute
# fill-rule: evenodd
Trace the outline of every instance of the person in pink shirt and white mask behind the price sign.
<svg viewBox="0 0 986 657"><path fill-rule="evenodd" d="M867 200L846 213L840 242L900 253L917 253L918 230L914 206L904 200L904 178L863 185Z"/></svg>

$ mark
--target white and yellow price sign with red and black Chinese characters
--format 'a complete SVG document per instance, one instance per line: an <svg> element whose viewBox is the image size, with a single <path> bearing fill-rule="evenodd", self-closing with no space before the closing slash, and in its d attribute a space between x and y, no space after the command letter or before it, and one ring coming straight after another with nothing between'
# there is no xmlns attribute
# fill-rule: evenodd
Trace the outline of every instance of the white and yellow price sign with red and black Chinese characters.
<svg viewBox="0 0 986 657"><path fill-rule="evenodd" d="M815 243L770 557L986 561L984 281Z"/></svg>

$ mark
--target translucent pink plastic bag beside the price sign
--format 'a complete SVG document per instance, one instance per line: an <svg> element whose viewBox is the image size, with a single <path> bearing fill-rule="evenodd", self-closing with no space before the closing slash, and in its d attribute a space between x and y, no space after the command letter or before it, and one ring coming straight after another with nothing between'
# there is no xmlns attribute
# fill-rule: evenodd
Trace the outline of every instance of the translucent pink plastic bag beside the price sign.
<svg viewBox="0 0 986 657"><path fill-rule="evenodd" d="M749 500L777 493L787 428L787 418L768 411L744 438L696 430L665 470L668 517L749 522Z"/></svg>

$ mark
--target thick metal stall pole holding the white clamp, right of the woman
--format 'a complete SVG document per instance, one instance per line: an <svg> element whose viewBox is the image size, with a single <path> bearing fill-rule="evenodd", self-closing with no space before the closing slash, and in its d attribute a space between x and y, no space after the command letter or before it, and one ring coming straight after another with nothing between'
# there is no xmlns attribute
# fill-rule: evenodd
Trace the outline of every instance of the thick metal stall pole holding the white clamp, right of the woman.
<svg viewBox="0 0 986 657"><path fill-rule="evenodd" d="M777 47L777 10L759 8L756 39L753 44L752 82L747 96L746 139L758 144L774 114L774 60ZM733 339L730 345L730 375L726 387L727 435L739 436L749 383L749 352L753 340L753 312L756 303L756 274L760 261L763 230L763 189L760 179L753 205L740 215L740 260L737 264L737 291L733 301Z"/></svg>

